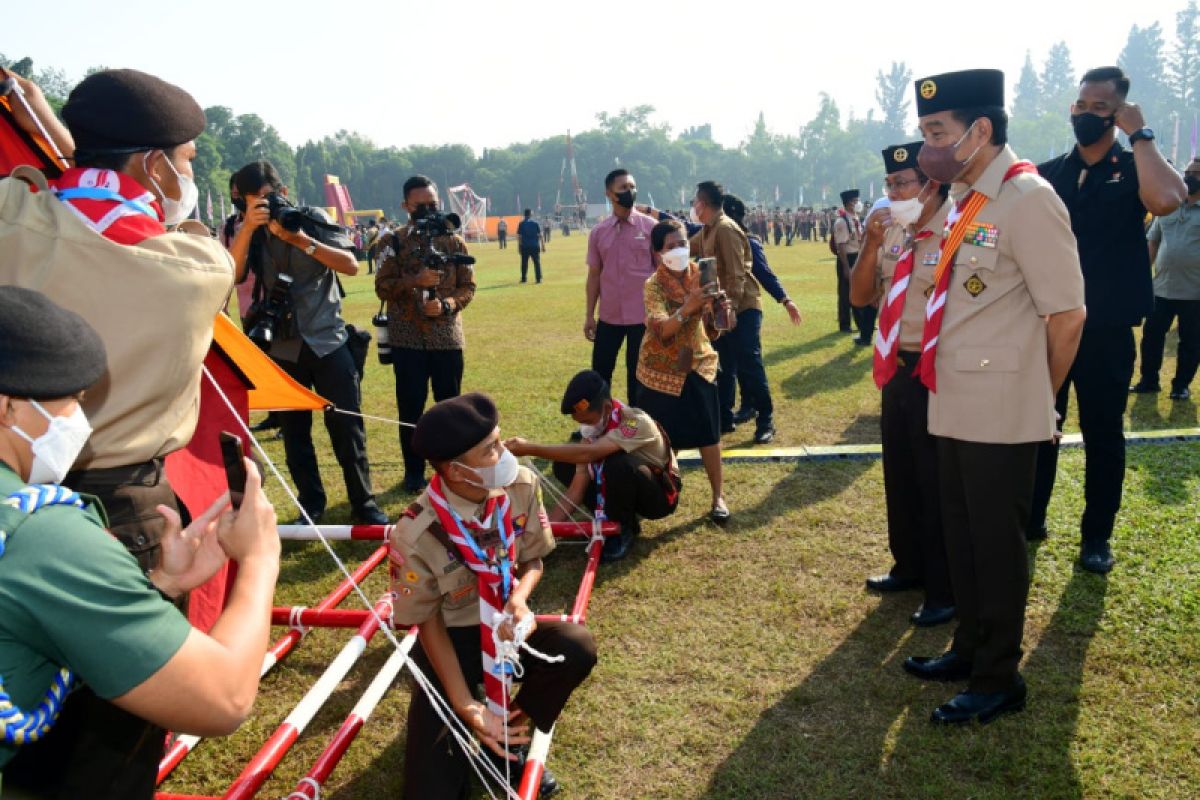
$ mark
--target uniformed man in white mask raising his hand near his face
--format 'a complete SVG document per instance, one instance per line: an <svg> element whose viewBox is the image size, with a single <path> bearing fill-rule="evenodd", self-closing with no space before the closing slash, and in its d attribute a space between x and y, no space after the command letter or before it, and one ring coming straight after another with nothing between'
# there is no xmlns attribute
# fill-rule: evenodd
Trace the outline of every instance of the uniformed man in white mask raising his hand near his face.
<svg viewBox="0 0 1200 800"><path fill-rule="evenodd" d="M850 273L850 301L864 306L882 296L874 373L883 390L883 493L894 564L887 575L868 578L866 587L884 593L923 587L925 602L912 622L928 627L954 618L954 591L942 541L937 444L928 427L929 390L913 369L950 204L949 185L930 181L917 168L920 144L883 150L890 204L866 221L863 253Z"/></svg>

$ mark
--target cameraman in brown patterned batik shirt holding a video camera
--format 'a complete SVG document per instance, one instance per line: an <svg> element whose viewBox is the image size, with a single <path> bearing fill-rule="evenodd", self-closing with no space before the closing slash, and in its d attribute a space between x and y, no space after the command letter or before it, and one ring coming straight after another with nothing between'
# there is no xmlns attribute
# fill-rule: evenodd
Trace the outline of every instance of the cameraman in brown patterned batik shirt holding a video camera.
<svg viewBox="0 0 1200 800"><path fill-rule="evenodd" d="M409 223L379 245L383 264L376 273L376 295L388 303L388 338L396 373L400 420L415 425L425 410L430 386L433 401L462 392L460 312L475 296L475 259L467 255L457 219L438 211L438 192L428 178L404 181ZM401 426L404 491L425 488L425 459L413 450L413 428Z"/></svg>

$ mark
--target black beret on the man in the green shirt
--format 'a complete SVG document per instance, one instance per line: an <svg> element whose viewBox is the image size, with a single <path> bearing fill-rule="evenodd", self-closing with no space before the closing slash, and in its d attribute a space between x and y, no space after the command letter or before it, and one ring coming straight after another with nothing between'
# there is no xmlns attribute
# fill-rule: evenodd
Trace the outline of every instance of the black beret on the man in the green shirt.
<svg viewBox="0 0 1200 800"><path fill-rule="evenodd" d="M83 317L38 291L0 287L0 393L68 397L107 366L104 343Z"/></svg>

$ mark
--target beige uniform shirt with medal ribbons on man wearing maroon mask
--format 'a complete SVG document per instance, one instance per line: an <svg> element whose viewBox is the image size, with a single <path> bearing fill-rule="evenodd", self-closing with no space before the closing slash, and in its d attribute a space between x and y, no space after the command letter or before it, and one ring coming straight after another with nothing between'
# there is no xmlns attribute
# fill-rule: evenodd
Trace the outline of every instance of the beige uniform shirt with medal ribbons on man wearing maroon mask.
<svg viewBox="0 0 1200 800"><path fill-rule="evenodd" d="M970 188L986 194L954 258L937 342L929 432L964 441L1049 441L1054 389L1050 314L1084 306L1084 276L1067 209L1034 174L1004 173L1006 146Z"/></svg>

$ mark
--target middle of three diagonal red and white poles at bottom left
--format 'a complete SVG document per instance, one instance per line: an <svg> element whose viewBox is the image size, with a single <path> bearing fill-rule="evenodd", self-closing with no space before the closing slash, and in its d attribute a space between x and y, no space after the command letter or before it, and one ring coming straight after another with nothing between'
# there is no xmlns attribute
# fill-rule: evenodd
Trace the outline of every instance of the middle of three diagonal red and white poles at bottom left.
<svg viewBox="0 0 1200 800"><path fill-rule="evenodd" d="M241 775L229 786L222 795L223 800L247 800L263 787L266 778L278 766L283 756L287 754L292 745L295 744L304 729L312 722L313 716L320 710L329 696L334 693L337 685L342 682L350 667L359 660L359 656L367 648L367 643L379 631L379 619L391 615L391 595L384 595L374 606L376 615L368 616L359 627L354 637L346 643L337 657L330 662L312 688L304 696L292 714L275 729L270 739L266 740L250 763L241 771Z"/></svg>

